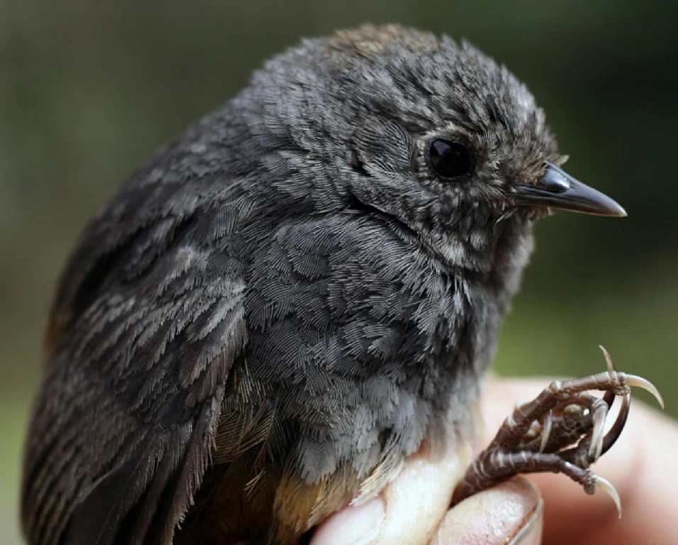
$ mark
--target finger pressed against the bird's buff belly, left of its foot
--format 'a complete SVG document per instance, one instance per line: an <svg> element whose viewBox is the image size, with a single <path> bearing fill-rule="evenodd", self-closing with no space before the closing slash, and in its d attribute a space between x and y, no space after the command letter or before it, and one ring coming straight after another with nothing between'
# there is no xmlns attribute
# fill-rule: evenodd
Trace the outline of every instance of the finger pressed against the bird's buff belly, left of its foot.
<svg viewBox="0 0 678 545"><path fill-rule="evenodd" d="M328 517L313 534L311 545L428 543L471 456L466 442L445 456L423 448L407 459L379 497Z"/></svg>

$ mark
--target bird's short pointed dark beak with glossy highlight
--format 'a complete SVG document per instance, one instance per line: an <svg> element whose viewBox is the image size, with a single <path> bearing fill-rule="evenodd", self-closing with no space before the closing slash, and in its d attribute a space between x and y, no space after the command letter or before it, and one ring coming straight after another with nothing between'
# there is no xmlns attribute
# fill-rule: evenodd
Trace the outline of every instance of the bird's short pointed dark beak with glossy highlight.
<svg viewBox="0 0 678 545"><path fill-rule="evenodd" d="M619 204L606 194L582 184L551 163L535 185L518 185L513 196L525 207L550 207L596 216L626 216Z"/></svg>

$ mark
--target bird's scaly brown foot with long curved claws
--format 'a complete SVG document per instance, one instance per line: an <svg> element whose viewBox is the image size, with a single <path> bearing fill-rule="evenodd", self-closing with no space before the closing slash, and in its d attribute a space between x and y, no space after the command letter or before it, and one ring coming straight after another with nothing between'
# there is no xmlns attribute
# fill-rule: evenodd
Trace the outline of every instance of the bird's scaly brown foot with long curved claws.
<svg viewBox="0 0 678 545"><path fill-rule="evenodd" d="M616 490L589 466L620 436L628 417L631 387L648 390L662 407L664 402L648 380L616 371L610 355L602 350L608 368L605 373L554 380L535 400L516 407L457 485L452 505L518 473L550 471L565 473L587 494L601 488L612 497L621 516ZM605 392L604 397L591 395L591 390ZM621 409L604 433L608 410L617 396L622 398Z"/></svg>

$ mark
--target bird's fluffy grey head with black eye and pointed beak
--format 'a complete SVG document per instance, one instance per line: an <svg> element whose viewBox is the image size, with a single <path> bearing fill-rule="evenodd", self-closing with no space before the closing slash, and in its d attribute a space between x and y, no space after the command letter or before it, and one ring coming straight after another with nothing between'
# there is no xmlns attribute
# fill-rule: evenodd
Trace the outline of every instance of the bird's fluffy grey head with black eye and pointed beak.
<svg viewBox="0 0 678 545"><path fill-rule="evenodd" d="M467 43L365 26L304 41L252 88L267 104L261 119L275 119L265 131L313 166L318 206L354 199L452 265L487 270L503 243L531 248L530 225L552 209L626 214L560 170L528 89Z"/></svg>

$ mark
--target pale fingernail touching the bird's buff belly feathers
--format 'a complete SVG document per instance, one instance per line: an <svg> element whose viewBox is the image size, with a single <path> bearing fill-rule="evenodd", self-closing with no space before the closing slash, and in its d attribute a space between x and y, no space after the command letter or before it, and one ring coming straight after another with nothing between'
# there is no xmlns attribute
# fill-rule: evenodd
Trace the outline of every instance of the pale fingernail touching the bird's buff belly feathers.
<svg viewBox="0 0 678 545"><path fill-rule="evenodd" d="M367 545L379 536L385 514L381 496L362 505L345 507L321 524L311 545Z"/></svg>

